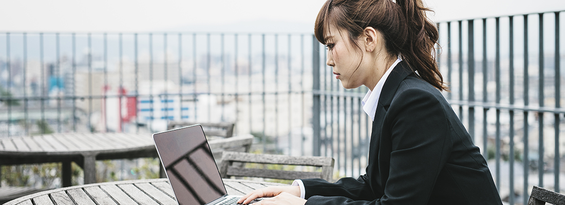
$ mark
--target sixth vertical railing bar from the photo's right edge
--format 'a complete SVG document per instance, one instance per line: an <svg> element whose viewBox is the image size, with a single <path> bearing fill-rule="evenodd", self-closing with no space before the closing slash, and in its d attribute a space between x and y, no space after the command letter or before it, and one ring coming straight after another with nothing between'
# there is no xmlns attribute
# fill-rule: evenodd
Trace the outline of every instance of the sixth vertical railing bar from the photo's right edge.
<svg viewBox="0 0 565 205"><path fill-rule="evenodd" d="M488 102L488 91L486 90L486 84L488 82L488 73L487 70L487 63L488 59L486 58L486 19L483 19L483 102ZM488 159L488 133L486 132L486 127L488 124L486 123L486 112L488 112L488 108L483 107L483 157Z"/></svg>

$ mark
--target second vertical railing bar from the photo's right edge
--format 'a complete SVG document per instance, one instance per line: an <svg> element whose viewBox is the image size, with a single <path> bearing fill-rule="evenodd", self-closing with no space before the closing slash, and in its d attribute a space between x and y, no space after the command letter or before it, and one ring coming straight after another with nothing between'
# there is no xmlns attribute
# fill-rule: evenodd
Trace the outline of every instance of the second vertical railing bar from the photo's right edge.
<svg viewBox="0 0 565 205"><path fill-rule="evenodd" d="M544 14L540 13L538 14L540 16L540 57L539 57L539 70L540 70L540 76L538 79L538 101L540 104L540 107L544 106ZM544 113L543 112L539 112L538 113L538 119L539 119L539 129L538 129L538 157L539 157L539 161L537 163L537 168L538 168L538 177L539 177L539 186L540 187L544 187Z"/></svg>

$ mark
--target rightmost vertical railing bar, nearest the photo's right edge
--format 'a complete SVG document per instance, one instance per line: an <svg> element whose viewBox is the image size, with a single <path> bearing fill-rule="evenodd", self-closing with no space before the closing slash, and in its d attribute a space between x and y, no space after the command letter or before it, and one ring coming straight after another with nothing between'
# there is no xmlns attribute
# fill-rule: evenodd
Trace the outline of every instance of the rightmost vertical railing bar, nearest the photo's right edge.
<svg viewBox="0 0 565 205"><path fill-rule="evenodd" d="M555 12L555 108L560 108L560 86L561 74L560 69L560 55L559 55L559 12ZM560 154L559 154L559 114L554 113L554 128L555 128L555 157L553 158L553 174L554 174L554 190L559 191L559 167L560 167Z"/></svg>

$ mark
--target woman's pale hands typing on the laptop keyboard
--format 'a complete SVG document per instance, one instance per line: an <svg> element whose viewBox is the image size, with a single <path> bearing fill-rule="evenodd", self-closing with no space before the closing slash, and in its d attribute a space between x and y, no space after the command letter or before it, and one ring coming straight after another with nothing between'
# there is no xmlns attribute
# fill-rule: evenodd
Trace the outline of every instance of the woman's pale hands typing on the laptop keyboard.
<svg viewBox="0 0 565 205"><path fill-rule="evenodd" d="M278 202L279 200L292 200L293 203L291 204L296 204L295 200L298 199L303 200L302 204L306 203L305 199L300 198L299 186L270 186L263 189L257 189L251 191L250 193L245 194L245 196L241 197L241 199L238 200L237 203L248 204L252 200L263 197L272 197L268 200L263 199L261 201L261 202L266 201L268 202L267 204L272 202ZM264 204L264 203L259 203L259 204Z"/></svg>

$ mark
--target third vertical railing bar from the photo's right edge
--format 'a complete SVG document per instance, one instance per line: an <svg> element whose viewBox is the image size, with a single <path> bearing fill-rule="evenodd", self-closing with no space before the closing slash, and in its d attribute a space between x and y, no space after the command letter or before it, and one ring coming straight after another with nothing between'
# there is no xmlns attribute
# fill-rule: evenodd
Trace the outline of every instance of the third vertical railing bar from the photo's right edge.
<svg viewBox="0 0 565 205"><path fill-rule="evenodd" d="M528 15L524 15L524 106L528 106L529 104L529 81L528 81ZM528 175L529 175L529 145L528 145L528 112L524 111L524 192L523 195L523 204L528 203Z"/></svg>

